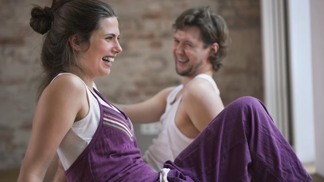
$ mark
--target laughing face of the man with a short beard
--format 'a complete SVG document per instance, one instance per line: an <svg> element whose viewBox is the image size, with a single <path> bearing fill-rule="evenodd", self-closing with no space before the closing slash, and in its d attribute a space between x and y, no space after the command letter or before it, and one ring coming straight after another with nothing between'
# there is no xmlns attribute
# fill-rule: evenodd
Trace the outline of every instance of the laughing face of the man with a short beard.
<svg viewBox="0 0 324 182"><path fill-rule="evenodd" d="M210 49L204 48L198 27L186 26L176 30L172 51L176 73L181 76L194 77L211 67L208 61Z"/></svg>

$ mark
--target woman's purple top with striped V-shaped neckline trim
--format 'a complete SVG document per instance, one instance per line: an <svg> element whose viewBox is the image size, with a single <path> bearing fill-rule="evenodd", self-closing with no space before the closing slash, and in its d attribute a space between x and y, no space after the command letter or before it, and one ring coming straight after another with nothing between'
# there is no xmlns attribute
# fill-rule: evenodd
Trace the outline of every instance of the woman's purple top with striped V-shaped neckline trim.
<svg viewBox="0 0 324 182"><path fill-rule="evenodd" d="M94 91L109 105L107 99ZM97 96L93 94L96 98ZM98 100L98 98L97 98ZM141 159L131 120L100 104L100 124L91 142L65 171L69 182L158 182L159 174ZM73 149L71 149L73 150Z"/></svg>

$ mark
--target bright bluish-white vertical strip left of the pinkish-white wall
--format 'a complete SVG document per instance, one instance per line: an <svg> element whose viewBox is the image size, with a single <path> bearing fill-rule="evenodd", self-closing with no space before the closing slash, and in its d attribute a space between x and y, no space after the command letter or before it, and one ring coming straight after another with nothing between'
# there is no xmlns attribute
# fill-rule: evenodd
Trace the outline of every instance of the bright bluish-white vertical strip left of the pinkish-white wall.
<svg viewBox="0 0 324 182"><path fill-rule="evenodd" d="M315 161L310 1L288 1L293 138L304 163Z"/></svg>

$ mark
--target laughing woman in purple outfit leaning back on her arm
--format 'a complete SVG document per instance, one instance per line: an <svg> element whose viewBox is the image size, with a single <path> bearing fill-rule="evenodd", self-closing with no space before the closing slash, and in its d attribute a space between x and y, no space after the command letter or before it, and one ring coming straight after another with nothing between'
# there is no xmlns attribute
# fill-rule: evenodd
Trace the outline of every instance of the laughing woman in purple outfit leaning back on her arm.
<svg viewBox="0 0 324 182"><path fill-rule="evenodd" d="M252 97L229 104L174 162L153 172L132 122L93 82L122 51L114 10L98 0L59 0L31 15L31 27L46 33L45 74L18 182L41 182L56 152L69 182L311 181Z"/></svg>

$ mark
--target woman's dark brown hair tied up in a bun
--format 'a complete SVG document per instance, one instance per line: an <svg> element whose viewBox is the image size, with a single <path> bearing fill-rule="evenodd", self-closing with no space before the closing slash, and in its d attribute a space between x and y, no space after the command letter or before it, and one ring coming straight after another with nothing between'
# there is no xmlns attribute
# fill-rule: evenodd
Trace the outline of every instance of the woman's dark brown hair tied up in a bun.
<svg viewBox="0 0 324 182"><path fill-rule="evenodd" d="M114 9L99 0L53 0L51 7L34 5L30 26L45 34L41 51L43 76L37 99L51 80L69 66L77 66L69 37L77 34L79 42L89 42L91 33L100 28L105 17L114 17Z"/></svg>

